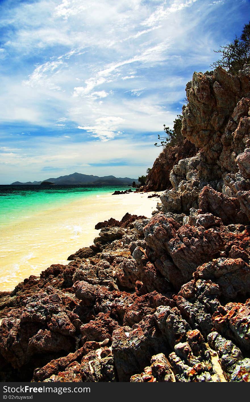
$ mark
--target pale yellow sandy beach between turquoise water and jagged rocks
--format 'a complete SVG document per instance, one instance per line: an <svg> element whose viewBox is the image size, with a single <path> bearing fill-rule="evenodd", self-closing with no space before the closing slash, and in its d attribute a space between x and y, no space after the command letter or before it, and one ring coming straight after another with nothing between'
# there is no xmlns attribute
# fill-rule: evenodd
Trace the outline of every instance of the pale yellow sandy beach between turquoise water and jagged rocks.
<svg viewBox="0 0 250 402"><path fill-rule="evenodd" d="M151 217L159 198L153 193L103 194L84 197L4 228L0 233L0 291L12 290L30 275L52 264L68 264L67 257L93 244L95 224L125 213ZM159 194L159 193L158 193Z"/></svg>

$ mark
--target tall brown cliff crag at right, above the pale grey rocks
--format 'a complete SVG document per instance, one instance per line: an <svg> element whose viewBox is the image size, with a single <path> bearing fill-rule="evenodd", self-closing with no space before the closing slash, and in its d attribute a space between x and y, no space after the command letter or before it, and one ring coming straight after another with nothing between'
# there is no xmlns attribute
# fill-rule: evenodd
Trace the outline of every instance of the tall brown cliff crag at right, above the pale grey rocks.
<svg viewBox="0 0 250 402"><path fill-rule="evenodd" d="M186 87L189 104L183 108L181 133L200 148L200 178L216 180L223 192L227 174L242 173L238 162L244 156L239 155L250 146L249 74L249 66L238 76L217 68L211 75L195 73Z"/></svg>

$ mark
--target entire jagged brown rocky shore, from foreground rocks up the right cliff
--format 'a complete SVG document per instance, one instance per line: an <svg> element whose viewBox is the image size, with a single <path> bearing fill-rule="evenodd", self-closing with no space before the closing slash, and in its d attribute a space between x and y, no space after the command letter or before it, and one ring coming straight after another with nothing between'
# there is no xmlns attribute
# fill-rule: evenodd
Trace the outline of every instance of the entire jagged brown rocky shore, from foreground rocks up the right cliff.
<svg viewBox="0 0 250 402"><path fill-rule="evenodd" d="M0 293L2 381L250 381L250 66L186 91L198 153L153 216Z"/></svg>

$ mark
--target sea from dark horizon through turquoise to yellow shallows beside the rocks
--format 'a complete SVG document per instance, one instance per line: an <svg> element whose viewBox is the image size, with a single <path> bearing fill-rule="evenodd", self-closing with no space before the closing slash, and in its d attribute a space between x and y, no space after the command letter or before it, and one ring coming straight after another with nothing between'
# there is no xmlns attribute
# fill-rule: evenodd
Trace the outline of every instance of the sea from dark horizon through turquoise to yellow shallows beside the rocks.
<svg viewBox="0 0 250 402"><path fill-rule="evenodd" d="M130 188L0 185L0 291L93 244L97 222L123 216L121 198L110 195Z"/></svg>

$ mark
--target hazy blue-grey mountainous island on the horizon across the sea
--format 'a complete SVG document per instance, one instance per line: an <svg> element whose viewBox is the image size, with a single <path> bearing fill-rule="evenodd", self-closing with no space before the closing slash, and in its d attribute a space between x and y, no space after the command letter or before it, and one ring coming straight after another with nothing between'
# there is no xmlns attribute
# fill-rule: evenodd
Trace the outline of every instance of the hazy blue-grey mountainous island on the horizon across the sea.
<svg viewBox="0 0 250 402"><path fill-rule="evenodd" d="M138 183L138 179L129 177L115 177L115 176L93 176L93 174L81 174L73 173L67 176L52 177L42 181L28 181L26 183L21 183L20 181L15 181L10 183L10 185L74 185L74 184L85 184L85 185L132 185L133 181Z"/></svg>

